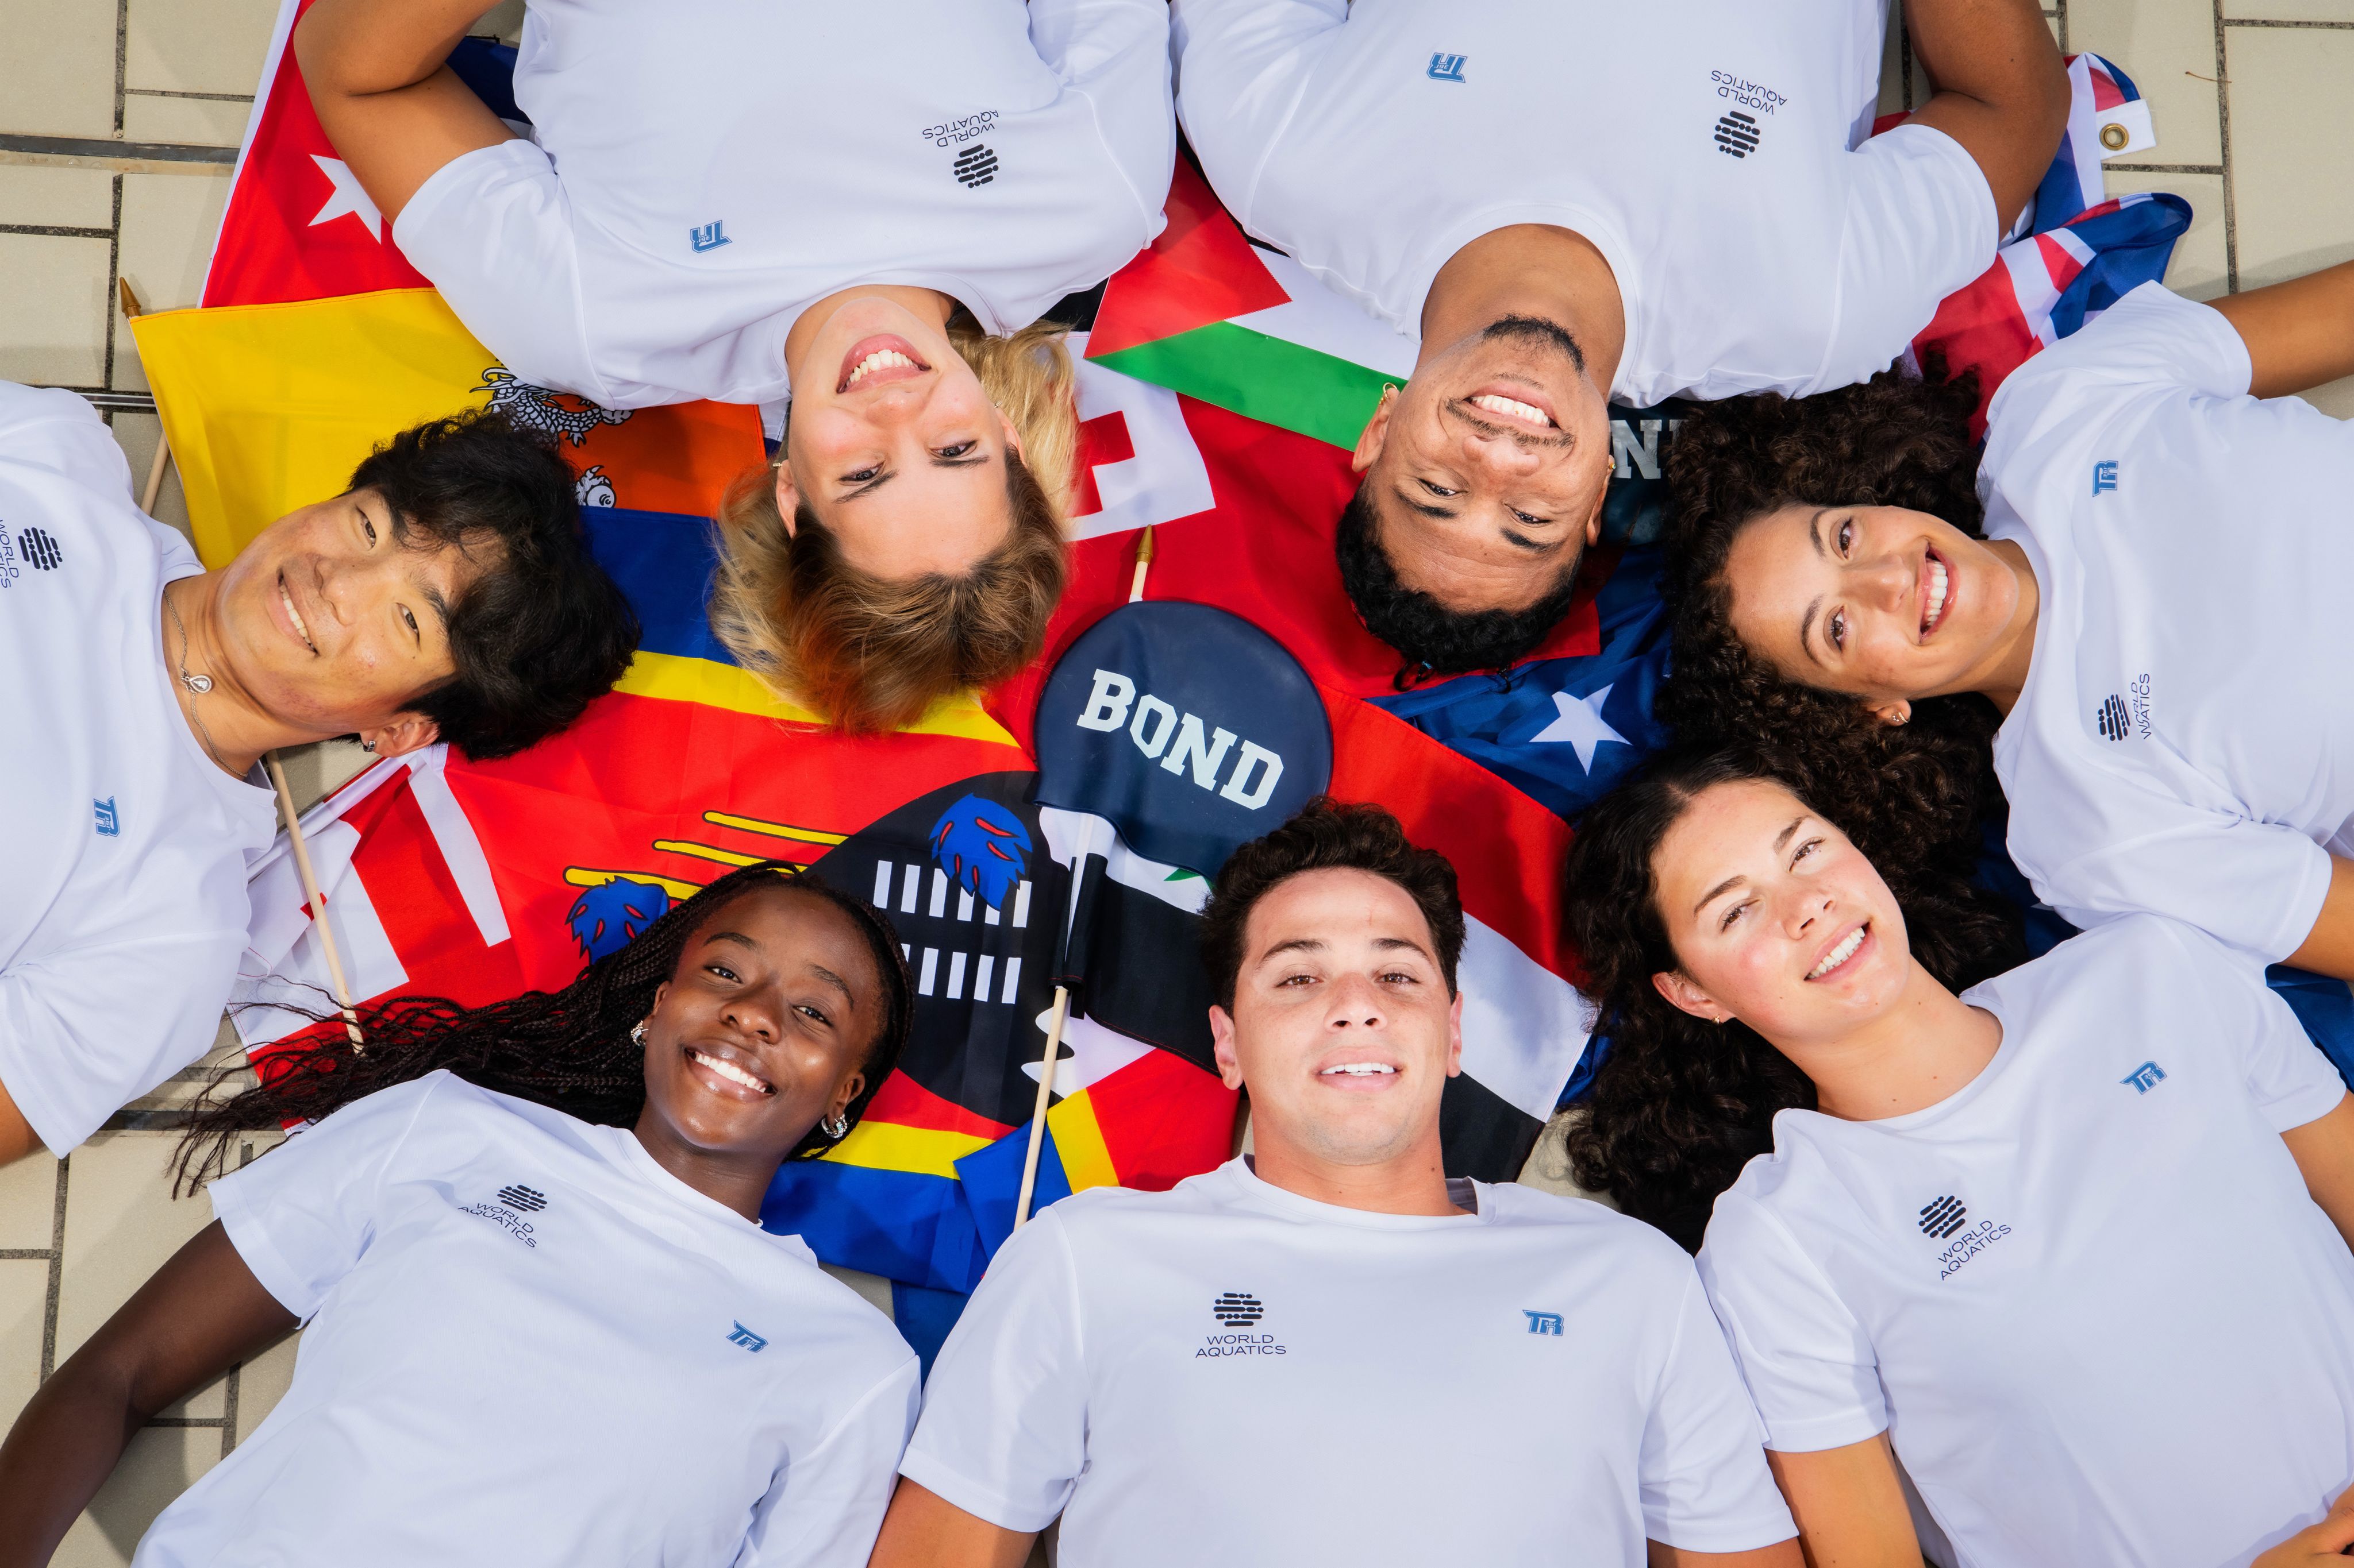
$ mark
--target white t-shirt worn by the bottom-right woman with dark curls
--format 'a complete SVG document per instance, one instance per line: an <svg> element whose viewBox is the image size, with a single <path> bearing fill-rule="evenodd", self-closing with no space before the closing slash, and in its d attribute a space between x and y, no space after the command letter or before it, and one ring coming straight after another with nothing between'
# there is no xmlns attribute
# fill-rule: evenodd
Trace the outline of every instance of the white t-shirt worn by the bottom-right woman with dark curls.
<svg viewBox="0 0 2354 1568"><path fill-rule="evenodd" d="M2281 1131L2345 1086L2246 954L2121 919L1963 994L1909 1117L1775 1117L1700 1276L1782 1453L1886 1429L1968 1568L2220 1568L2354 1481L2354 1255Z"/></svg>

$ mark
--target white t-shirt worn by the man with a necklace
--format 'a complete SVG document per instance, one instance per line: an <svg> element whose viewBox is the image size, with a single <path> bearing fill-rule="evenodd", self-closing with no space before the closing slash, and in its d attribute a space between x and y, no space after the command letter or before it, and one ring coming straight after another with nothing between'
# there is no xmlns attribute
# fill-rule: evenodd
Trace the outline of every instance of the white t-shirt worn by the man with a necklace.
<svg viewBox="0 0 2354 1568"><path fill-rule="evenodd" d="M172 696L198 571L85 400L0 381L0 1084L54 1154L212 1046L275 830Z"/></svg>

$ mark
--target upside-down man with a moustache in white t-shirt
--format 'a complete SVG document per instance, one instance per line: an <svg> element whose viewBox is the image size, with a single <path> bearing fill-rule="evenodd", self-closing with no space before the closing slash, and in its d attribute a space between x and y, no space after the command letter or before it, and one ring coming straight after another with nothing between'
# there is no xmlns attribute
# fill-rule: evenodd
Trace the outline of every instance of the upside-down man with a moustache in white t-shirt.
<svg viewBox="0 0 2354 1568"><path fill-rule="evenodd" d="M1608 402L1813 393L1895 360L2067 120L2032 0L1907 0L1935 96L1864 141L1883 0L1175 0L1177 115L1245 230L1408 336L1339 564L1431 672L1570 607Z"/></svg>

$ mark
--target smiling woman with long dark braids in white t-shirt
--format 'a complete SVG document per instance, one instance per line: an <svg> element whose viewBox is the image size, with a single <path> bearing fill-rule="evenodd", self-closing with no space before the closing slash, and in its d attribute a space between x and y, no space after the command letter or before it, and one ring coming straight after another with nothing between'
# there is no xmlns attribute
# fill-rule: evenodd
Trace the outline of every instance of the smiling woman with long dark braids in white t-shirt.
<svg viewBox="0 0 2354 1568"><path fill-rule="evenodd" d="M45 1563L129 1434L308 1324L294 1382L162 1512L144 1568L866 1561L916 1356L796 1237L786 1159L906 1041L890 924L774 863L558 992L395 999L205 1103L214 1222L0 1446L0 1563Z"/></svg>

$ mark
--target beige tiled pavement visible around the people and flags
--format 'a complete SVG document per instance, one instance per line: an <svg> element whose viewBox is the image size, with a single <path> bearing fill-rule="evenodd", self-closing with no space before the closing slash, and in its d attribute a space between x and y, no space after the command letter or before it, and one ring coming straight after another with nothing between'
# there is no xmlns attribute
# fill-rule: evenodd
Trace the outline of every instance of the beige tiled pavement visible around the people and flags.
<svg viewBox="0 0 2354 1568"><path fill-rule="evenodd" d="M158 423L115 280L148 308L195 303L275 9L0 0L0 59L12 66L0 92L0 376L111 404L134 475L146 475ZM2354 256L2354 139L2340 125L2354 96L2354 0L2057 0L2048 16L2064 49L2112 56L2152 103L2159 146L2109 165L2109 190L2189 197L2196 219L2173 287L2213 299ZM520 0L508 0L478 31L511 38L518 19ZM1907 66L1893 38L1890 108L1907 101ZM2354 416L2354 378L2312 400ZM186 524L177 477L158 510ZM344 745L290 759L304 799L355 766ZM0 1171L0 1420L210 1218L202 1199L167 1199L172 1138L151 1126L200 1077L132 1105L68 1161ZM282 1345L141 1432L59 1568L127 1561L148 1519L268 1413L292 1361Z"/></svg>

